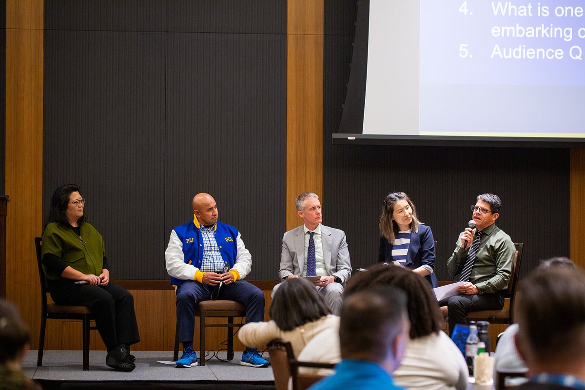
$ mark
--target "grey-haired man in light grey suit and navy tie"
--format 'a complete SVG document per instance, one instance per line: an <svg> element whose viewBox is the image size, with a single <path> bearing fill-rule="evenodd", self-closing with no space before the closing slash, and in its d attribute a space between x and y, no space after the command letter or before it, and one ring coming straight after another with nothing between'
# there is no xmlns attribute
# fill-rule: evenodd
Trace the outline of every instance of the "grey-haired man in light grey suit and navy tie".
<svg viewBox="0 0 585 390"><path fill-rule="evenodd" d="M319 277L315 287L339 315L343 284L352 276L345 233L321 225L321 202L316 194L303 192L295 205L304 223L284 233L280 278Z"/></svg>

